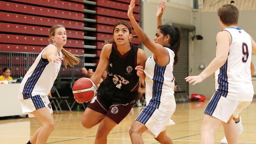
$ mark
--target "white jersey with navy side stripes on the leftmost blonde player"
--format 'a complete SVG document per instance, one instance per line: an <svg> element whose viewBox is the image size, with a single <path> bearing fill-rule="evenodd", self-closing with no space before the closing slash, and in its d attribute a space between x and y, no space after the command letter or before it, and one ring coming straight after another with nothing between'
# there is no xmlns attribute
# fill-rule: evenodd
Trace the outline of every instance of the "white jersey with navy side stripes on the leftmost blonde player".
<svg viewBox="0 0 256 144"><path fill-rule="evenodd" d="M48 46L54 45L49 44ZM35 62L24 76L20 84L18 98L25 100L36 95L47 96L52 89L54 81L58 76L61 63L54 63L52 65L52 62L44 63L42 61L42 54L48 46L37 56ZM60 52L60 54L58 54L57 52L57 56L59 55L62 55L62 53Z"/></svg>

